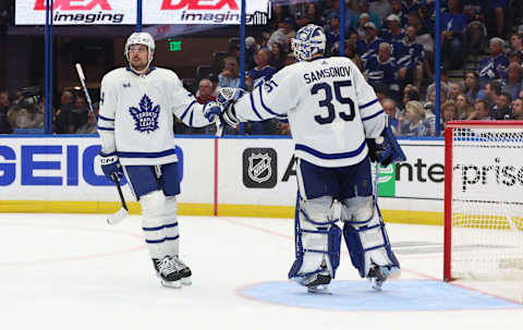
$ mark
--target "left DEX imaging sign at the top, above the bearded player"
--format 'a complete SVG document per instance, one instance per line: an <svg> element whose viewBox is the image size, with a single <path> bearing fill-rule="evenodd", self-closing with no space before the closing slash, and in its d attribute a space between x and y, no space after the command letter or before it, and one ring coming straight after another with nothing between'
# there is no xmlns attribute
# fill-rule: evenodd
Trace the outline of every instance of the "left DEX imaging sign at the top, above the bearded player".
<svg viewBox="0 0 523 330"><path fill-rule="evenodd" d="M53 0L52 3L51 17L54 25L136 24L136 1ZM15 24L46 24L46 5L47 0L16 0Z"/></svg>

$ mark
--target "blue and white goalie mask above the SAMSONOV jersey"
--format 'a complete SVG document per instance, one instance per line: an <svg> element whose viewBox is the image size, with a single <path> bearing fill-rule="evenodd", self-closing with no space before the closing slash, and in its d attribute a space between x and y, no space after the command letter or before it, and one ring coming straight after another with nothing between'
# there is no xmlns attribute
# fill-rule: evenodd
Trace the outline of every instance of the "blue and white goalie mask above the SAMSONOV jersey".
<svg viewBox="0 0 523 330"><path fill-rule="evenodd" d="M291 48L296 61L308 61L315 53L324 53L326 37L324 29L314 24L300 28L292 38Z"/></svg>

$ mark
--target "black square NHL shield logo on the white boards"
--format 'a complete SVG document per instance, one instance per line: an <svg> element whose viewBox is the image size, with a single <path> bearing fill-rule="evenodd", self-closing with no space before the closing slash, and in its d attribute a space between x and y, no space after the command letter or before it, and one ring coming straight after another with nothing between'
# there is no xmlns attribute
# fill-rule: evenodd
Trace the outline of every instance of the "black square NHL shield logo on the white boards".
<svg viewBox="0 0 523 330"><path fill-rule="evenodd" d="M243 151L243 184L251 188L271 188L277 183L277 154L272 148Z"/></svg>

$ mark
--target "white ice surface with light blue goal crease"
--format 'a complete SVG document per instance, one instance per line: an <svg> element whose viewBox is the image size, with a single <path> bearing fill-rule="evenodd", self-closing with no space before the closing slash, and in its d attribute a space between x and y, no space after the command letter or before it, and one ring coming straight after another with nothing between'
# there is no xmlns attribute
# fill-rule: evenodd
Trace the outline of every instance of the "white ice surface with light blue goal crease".
<svg viewBox="0 0 523 330"><path fill-rule="evenodd" d="M332 295L287 280L290 219L180 217L193 285L159 284L129 216L0 213L0 329L521 329L521 282L440 281L442 228L388 224L400 280L374 292L342 243Z"/></svg>

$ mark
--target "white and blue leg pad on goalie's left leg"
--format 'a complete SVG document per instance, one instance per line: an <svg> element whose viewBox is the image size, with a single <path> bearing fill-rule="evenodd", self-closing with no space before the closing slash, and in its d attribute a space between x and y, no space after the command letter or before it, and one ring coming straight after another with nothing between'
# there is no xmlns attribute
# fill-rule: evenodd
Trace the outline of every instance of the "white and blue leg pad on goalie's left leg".
<svg viewBox="0 0 523 330"><path fill-rule="evenodd" d="M332 218L332 198L319 197L300 200L296 205L296 260L289 278L301 279L325 273L335 278L340 264L341 230Z"/></svg>

